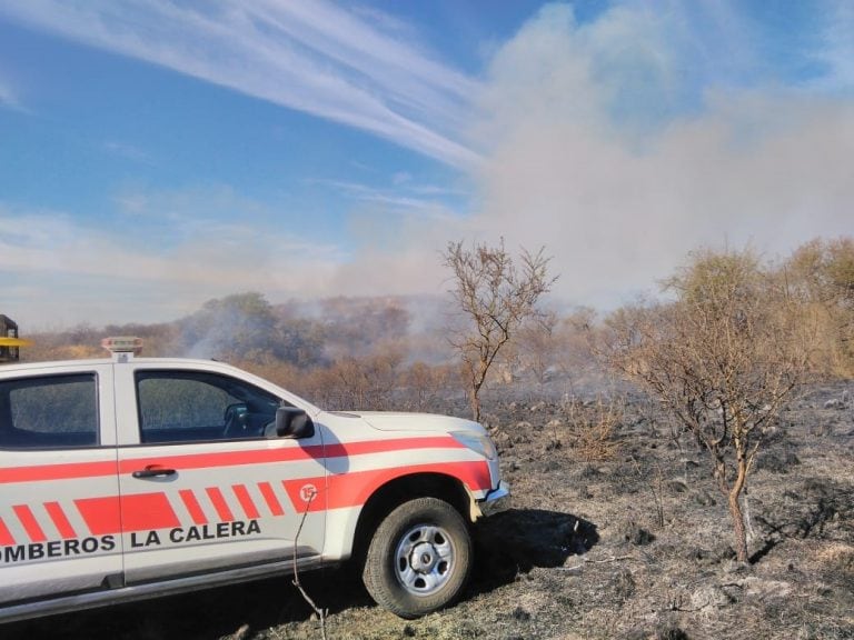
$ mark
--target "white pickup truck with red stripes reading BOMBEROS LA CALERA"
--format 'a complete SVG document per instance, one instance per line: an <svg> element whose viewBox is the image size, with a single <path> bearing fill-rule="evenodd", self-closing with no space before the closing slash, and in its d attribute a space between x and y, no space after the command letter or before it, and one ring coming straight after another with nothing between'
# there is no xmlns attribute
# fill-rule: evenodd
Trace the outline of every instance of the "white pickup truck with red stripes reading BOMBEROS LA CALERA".
<svg viewBox="0 0 854 640"><path fill-rule="evenodd" d="M481 426L107 346L0 367L0 622L350 558L404 618L460 594L469 524L509 496Z"/></svg>

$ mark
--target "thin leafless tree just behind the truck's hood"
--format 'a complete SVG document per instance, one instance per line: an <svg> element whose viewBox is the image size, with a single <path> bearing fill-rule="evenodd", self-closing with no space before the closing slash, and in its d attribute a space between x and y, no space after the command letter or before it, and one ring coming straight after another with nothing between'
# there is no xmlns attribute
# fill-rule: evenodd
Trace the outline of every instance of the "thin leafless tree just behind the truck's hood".
<svg viewBox="0 0 854 640"><path fill-rule="evenodd" d="M480 390L489 367L519 328L536 313L536 303L556 278L548 277L550 258L540 248L536 253L523 249L520 268L504 247L449 242L443 254L454 273L451 293L466 317L466 327L455 331L451 344L459 352L471 414L480 420Z"/></svg>

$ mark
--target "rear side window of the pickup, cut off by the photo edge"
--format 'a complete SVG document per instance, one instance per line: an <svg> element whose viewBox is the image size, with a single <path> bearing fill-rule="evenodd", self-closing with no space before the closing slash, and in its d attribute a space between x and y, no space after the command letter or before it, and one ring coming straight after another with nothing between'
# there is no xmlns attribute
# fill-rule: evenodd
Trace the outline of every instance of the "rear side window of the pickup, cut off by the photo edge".
<svg viewBox="0 0 854 640"><path fill-rule="evenodd" d="M43 376L0 382L0 447L97 447L95 373Z"/></svg>

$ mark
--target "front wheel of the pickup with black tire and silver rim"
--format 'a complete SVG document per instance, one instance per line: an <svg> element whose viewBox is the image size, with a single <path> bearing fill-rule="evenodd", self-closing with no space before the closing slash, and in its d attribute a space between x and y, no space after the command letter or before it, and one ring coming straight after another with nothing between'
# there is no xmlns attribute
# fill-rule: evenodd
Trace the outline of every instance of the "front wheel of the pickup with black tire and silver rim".
<svg viewBox="0 0 854 640"><path fill-rule="evenodd" d="M459 597L471 557L471 537L459 512L444 500L418 498L379 523L361 578L377 604L413 619Z"/></svg>

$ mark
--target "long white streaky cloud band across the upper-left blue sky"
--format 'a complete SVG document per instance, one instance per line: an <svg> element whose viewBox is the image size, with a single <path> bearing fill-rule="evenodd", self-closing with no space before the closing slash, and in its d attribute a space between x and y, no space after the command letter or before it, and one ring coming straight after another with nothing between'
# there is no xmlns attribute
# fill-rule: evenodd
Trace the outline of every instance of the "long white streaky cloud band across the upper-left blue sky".
<svg viewBox="0 0 854 640"><path fill-rule="evenodd" d="M456 139L477 84L326 0L10 0L0 13L391 140L455 167L478 156Z"/></svg>

